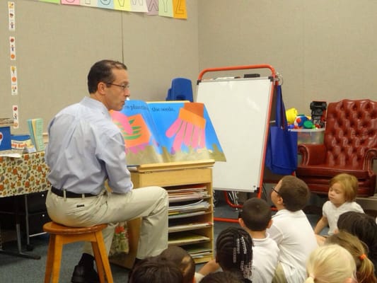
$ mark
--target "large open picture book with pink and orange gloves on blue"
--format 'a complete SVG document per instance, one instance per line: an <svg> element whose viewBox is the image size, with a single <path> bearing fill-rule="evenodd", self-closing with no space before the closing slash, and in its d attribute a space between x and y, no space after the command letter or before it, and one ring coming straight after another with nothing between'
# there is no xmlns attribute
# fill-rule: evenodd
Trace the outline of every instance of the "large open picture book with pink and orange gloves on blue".
<svg viewBox="0 0 377 283"><path fill-rule="evenodd" d="M123 134L128 166L226 161L203 103L128 100L110 115Z"/></svg>

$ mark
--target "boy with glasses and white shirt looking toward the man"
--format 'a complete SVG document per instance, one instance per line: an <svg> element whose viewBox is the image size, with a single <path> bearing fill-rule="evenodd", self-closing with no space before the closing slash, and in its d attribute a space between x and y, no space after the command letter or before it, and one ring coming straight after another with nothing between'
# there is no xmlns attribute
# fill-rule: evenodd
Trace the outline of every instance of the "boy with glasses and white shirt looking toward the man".
<svg viewBox="0 0 377 283"><path fill-rule="evenodd" d="M277 207L272 216L269 236L280 249L273 283L302 283L306 279L306 260L318 247L313 228L303 213L310 196L308 185L292 175L286 175L271 192Z"/></svg>

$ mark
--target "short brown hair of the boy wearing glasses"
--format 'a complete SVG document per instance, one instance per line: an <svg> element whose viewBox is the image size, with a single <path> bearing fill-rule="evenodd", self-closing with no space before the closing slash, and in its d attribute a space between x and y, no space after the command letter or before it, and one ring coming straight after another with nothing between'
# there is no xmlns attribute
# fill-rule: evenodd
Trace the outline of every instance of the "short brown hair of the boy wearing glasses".
<svg viewBox="0 0 377 283"><path fill-rule="evenodd" d="M303 209L308 203L310 191L306 183L292 175L282 178L282 186L279 195L283 198L283 204L291 212Z"/></svg>

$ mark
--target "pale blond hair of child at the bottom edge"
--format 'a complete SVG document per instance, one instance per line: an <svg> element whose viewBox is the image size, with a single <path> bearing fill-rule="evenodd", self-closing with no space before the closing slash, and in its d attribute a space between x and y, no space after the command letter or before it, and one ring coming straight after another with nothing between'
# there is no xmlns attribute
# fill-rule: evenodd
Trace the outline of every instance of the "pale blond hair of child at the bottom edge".
<svg viewBox="0 0 377 283"><path fill-rule="evenodd" d="M348 250L339 245L323 245L313 250L306 262L304 283L344 283L354 279L356 265Z"/></svg>

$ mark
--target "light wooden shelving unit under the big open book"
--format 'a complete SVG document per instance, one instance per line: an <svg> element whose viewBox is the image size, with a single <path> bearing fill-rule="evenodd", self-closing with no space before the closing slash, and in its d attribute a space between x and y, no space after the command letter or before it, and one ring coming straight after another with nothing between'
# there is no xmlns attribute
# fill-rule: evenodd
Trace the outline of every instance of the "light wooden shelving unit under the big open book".
<svg viewBox="0 0 377 283"><path fill-rule="evenodd" d="M214 213L212 200L212 168L213 160L185 161L179 163L151 164L135 168L131 172L134 187L148 187L157 185L169 190L187 190L199 187L204 191L203 197L194 197L194 200L182 202L208 202L205 209L195 209L190 215L169 218L169 245L185 248L193 255L196 263L207 262L214 258ZM173 203L177 204L177 201ZM181 204L178 202L178 204ZM172 205L170 203L170 205ZM169 216L171 217L171 216ZM132 268L137 254L139 239L140 219L127 222L129 235L129 253L116 255L110 258L110 262L122 267ZM201 253L202 252L202 253ZM199 253L199 255L197 254Z"/></svg>

